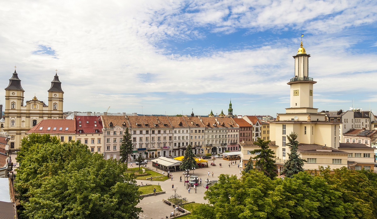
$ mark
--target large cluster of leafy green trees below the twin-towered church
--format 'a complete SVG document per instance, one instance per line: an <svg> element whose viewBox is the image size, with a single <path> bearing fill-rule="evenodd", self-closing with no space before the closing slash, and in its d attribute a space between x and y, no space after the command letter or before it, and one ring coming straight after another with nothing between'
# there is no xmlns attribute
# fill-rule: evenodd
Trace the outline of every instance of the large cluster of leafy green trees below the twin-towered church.
<svg viewBox="0 0 377 219"><path fill-rule="evenodd" d="M31 134L22 139L15 190L20 218L138 218L140 198L127 165L78 141Z"/></svg>

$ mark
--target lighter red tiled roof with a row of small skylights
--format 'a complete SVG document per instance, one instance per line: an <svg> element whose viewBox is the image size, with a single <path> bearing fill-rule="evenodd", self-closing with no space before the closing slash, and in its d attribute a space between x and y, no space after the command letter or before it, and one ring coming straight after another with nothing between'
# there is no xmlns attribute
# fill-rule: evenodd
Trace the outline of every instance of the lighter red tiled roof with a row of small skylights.
<svg viewBox="0 0 377 219"><path fill-rule="evenodd" d="M43 119L27 133L76 133L75 121L70 119Z"/></svg>

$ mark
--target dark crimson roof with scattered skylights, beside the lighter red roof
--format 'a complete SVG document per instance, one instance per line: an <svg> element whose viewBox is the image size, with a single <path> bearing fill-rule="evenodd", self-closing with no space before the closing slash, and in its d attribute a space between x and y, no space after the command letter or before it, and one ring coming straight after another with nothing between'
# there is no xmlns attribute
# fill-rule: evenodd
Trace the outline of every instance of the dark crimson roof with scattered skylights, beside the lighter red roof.
<svg viewBox="0 0 377 219"><path fill-rule="evenodd" d="M101 116L75 116L74 121L76 133L102 133Z"/></svg>

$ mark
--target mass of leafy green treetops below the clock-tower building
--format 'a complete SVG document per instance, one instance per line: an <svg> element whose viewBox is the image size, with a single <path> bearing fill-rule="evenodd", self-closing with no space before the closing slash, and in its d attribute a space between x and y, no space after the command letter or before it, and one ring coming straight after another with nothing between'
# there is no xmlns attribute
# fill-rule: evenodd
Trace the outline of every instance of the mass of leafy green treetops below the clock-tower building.
<svg viewBox="0 0 377 219"><path fill-rule="evenodd" d="M349 170L270 179L255 168L237 176L220 175L206 191L209 204L192 219L357 219L376 218L377 174Z"/></svg>

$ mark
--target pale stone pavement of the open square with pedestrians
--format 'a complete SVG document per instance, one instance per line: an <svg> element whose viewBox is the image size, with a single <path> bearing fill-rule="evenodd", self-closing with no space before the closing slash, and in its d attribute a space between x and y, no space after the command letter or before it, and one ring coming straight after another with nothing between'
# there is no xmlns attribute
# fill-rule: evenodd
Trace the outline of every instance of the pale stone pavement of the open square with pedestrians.
<svg viewBox="0 0 377 219"><path fill-rule="evenodd" d="M187 187L184 185L184 171L172 172L173 180L168 179L164 182L160 181L150 181L150 180L136 180L137 183L140 185L141 182L145 185L147 184L154 184L154 185L161 185L163 191L166 191L165 194L160 194L156 196L149 196L144 198L140 201L137 207L143 208L144 212L139 214L139 217L142 219L160 219L165 218L165 216L169 216L170 212L174 210L172 206L169 206L162 202L162 199L168 199L170 196L174 195L174 190L172 190L172 184L174 184L174 188L177 188L176 193L181 195L182 197L187 198L188 201L195 201L196 203L208 203L207 200L204 200L204 192L207 191L205 188L207 178L209 180L218 180L220 174L230 174L230 175L237 175L240 177L239 170L242 171L242 168L237 168L237 165L228 166L229 161L223 160L222 158L215 160L216 166L209 166L208 168L199 168L194 171L190 171L190 175L198 176L198 178L202 178L202 184L198 185L195 189L191 187L190 193L186 189ZM222 167L220 168L219 163L222 163ZM239 160L237 161L239 163ZM133 163L133 167L135 167ZM130 167L130 164L129 164ZM156 168L152 168L152 162L148 162L147 167L151 170L156 171ZM208 177L208 171L210 172L210 176ZM162 170L157 170L157 172L162 173ZM193 174L194 172L194 174ZM213 172L213 177L212 177ZM167 173L165 173L167 174ZM179 182L179 176L182 176L182 182ZM151 191L152 193L153 191Z"/></svg>

